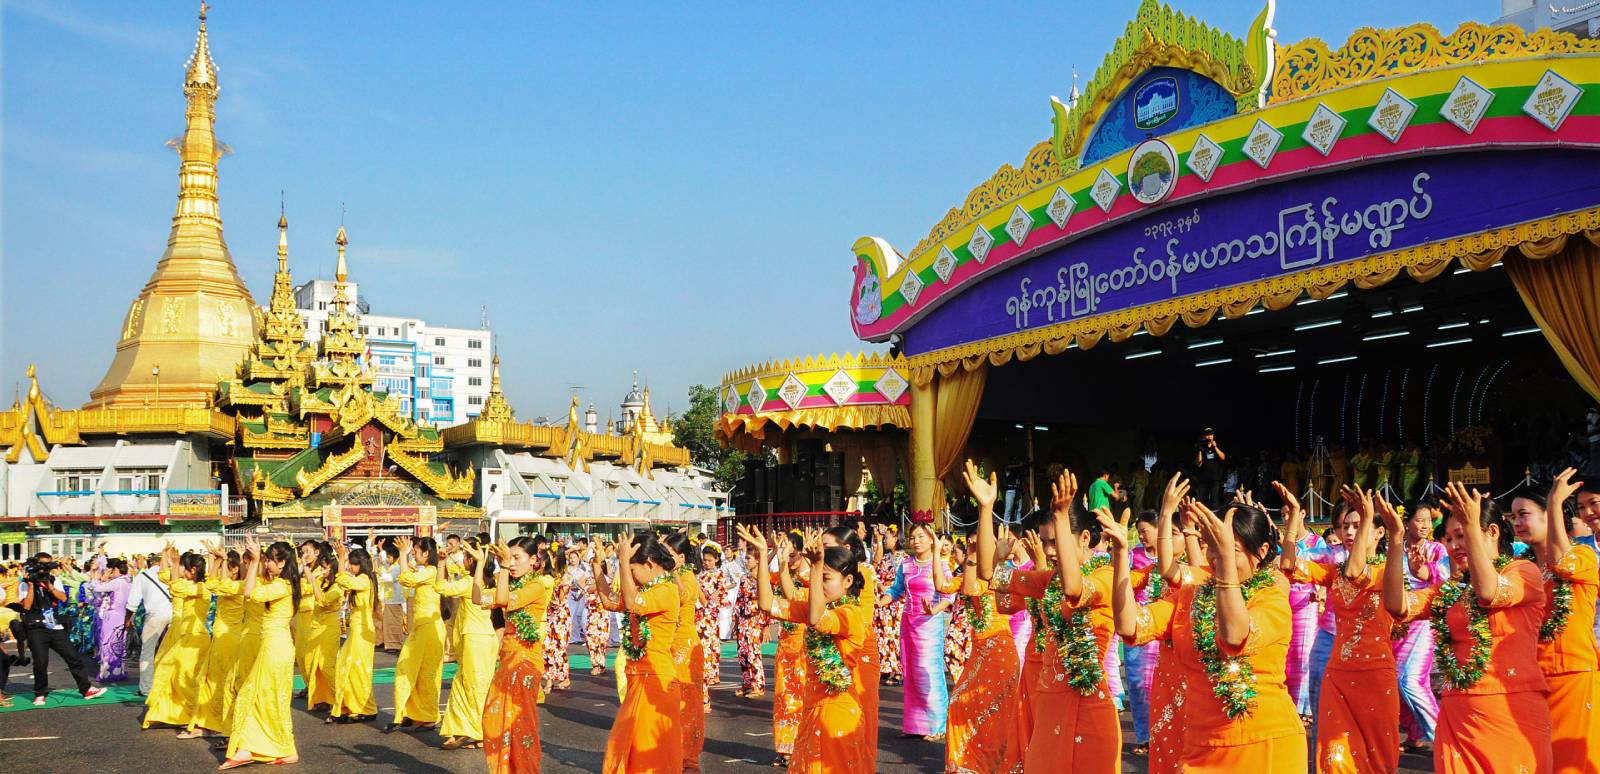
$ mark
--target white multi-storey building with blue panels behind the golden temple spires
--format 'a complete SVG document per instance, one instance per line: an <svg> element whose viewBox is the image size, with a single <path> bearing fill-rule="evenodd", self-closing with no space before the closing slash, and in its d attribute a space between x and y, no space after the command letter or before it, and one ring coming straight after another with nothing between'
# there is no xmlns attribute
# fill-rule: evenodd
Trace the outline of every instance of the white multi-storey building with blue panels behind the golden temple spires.
<svg viewBox="0 0 1600 774"><path fill-rule="evenodd" d="M322 337L333 280L310 280L294 288L294 305L306 318L306 341ZM397 395L421 424L451 427L470 421L490 395L490 360L494 339L488 328L445 328L416 317L389 317L368 312L357 283L346 283L355 296L366 337L368 366L376 389Z"/></svg>

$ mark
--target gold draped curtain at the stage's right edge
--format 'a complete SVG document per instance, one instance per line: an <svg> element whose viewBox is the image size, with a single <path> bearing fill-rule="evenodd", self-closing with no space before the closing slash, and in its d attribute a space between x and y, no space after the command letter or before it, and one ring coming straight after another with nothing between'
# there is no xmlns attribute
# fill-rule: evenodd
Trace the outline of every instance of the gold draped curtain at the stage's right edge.
<svg viewBox="0 0 1600 774"><path fill-rule="evenodd" d="M1523 243L1506 273L1566 373L1600 400L1600 232L1557 240Z"/></svg>

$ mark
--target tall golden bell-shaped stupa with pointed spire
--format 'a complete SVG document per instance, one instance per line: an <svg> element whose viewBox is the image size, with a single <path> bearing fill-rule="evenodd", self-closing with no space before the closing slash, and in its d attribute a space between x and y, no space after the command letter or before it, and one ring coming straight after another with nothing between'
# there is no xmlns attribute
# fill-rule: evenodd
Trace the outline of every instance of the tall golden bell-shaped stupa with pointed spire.
<svg viewBox="0 0 1600 774"><path fill-rule="evenodd" d="M218 211L216 62L200 32L184 69L178 211L166 251L123 317L117 355L85 408L206 406L256 337L259 313L222 240Z"/></svg>

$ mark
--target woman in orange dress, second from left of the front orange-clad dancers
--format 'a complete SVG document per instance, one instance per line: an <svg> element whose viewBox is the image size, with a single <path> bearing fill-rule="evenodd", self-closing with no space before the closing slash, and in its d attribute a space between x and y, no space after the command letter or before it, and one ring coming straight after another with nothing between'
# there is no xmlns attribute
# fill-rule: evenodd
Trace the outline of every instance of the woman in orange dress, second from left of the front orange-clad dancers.
<svg viewBox="0 0 1600 774"><path fill-rule="evenodd" d="M675 561L654 533L622 536L616 544L621 592L595 584L606 609L627 612L622 654L627 656L627 696L605 745L605 774L629 771L680 771L682 734L677 728L682 692L674 684L677 632L691 625L674 584ZM595 558L595 577L603 565ZM698 715L698 713L696 713Z"/></svg>

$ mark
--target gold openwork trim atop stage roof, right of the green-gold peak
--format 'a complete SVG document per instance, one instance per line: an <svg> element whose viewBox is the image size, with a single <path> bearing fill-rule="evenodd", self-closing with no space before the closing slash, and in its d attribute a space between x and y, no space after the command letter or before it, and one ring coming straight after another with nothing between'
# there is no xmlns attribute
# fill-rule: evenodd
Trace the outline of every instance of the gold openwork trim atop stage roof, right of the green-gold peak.
<svg viewBox="0 0 1600 774"><path fill-rule="evenodd" d="M1350 34L1338 51L1330 51L1328 43L1320 38L1278 46L1267 104L1454 64L1594 51L1600 51L1600 40L1584 40L1549 29L1528 34L1515 24L1490 26L1469 21L1456 27L1450 37L1440 35L1432 24L1362 27Z"/></svg>

